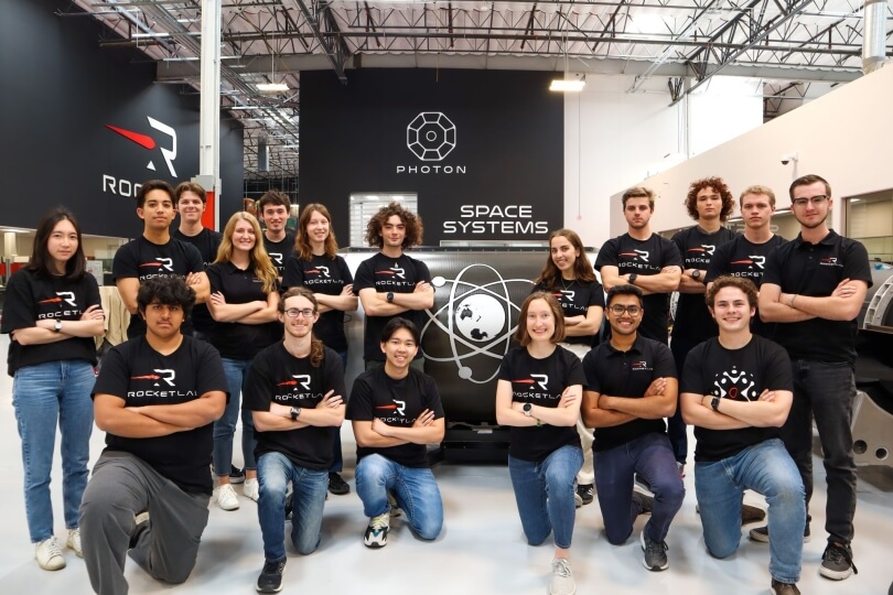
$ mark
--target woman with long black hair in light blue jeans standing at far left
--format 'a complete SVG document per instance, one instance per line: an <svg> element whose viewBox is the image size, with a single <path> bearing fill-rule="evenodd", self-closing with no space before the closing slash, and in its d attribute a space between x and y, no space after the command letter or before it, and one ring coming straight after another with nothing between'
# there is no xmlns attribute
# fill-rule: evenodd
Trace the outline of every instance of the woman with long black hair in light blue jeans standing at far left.
<svg viewBox="0 0 893 595"><path fill-rule="evenodd" d="M43 570L65 566L53 536L50 472L62 433L66 545L80 552L78 508L87 487L96 344L105 333L99 288L86 271L80 228L65 208L37 224L28 266L13 273L0 332L11 336L12 404L22 439L25 516Z"/></svg>

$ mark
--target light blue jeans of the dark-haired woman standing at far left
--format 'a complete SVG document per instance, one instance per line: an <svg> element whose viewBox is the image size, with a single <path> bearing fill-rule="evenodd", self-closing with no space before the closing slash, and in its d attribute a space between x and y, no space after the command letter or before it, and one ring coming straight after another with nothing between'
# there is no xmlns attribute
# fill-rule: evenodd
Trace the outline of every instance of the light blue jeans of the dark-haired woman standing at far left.
<svg viewBox="0 0 893 595"><path fill-rule="evenodd" d="M87 487L93 432L90 392L96 377L89 361L69 359L25 366L15 371L12 404L22 439L24 497L32 543L53 534L50 472L56 424L62 434L62 496L65 527L77 528Z"/></svg>

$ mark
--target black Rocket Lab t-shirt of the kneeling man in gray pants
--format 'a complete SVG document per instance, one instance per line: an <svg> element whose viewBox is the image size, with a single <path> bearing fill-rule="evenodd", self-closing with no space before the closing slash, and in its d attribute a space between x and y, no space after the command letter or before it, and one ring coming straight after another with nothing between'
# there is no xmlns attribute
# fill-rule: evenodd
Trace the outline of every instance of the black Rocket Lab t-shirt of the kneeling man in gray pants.
<svg viewBox="0 0 893 595"><path fill-rule="evenodd" d="M125 407L168 405L194 401L211 391L229 389L217 350L203 340L183 337L171 355L155 351L146 336L112 347L103 358L93 396L123 399ZM106 451L123 451L191 494L211 494L214 423L166 436L131 439L106 433Z"/></svg>

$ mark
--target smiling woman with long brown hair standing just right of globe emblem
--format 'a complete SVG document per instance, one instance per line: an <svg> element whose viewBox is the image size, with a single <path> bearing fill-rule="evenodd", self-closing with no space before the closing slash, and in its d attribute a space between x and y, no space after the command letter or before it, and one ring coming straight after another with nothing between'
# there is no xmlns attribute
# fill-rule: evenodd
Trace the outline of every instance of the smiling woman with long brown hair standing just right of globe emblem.
<svg viewBox="0 0 893 595"><path fill-rule="evenodd" d="M581 360L599 343L604 318L604 290L599 283L585 248L572 229L558 229L549 236L549 258L534 291L555 295L564 313L564 339L561 346ZM592 463L592 430L577 422L583 446L583 467L577 474L577 506L588 505L595 497L595 470Z"/></svg>

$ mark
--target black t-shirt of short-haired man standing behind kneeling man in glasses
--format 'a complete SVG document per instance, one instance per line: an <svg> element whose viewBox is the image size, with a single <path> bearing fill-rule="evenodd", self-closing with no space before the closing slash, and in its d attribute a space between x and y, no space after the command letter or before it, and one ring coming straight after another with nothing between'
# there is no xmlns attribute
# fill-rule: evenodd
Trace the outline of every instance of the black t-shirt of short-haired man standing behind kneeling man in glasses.
<svg viewBox="0 0 893 595"><path fill-rule="evenodd" d="M620 274L636 273L638 275L658 274L666 267L682 268L682 258L679 249L670 240L652 234L652 237L641 241L630 237L630 234L612 238L604 242L599 256L595 258L595 269L602 267L616 267ZM645 315L638 333L642 336L667 343L669 312L669 293L653 293L644 298Z"/></svg>

